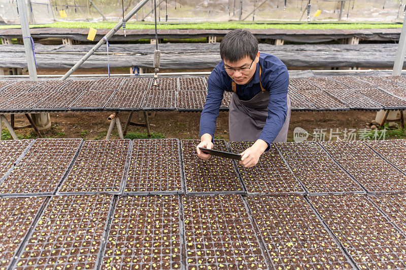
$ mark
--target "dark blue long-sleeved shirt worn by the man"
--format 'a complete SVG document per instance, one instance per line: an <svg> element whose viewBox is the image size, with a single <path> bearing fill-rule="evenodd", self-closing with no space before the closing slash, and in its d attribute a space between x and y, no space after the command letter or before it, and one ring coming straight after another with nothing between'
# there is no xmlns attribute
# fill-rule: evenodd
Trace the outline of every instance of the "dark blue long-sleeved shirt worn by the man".
<svg viewBox="0 0 406 270"><path fill-rule="evenodd" d="M261 76L259 76L259 65L262 68ZM259 80L261 80L262 87L269 91L269 103L268 118L258 139L264 140L269 146L278 136L286 119L288 110L288 69L276 56L265 53L259 54L259 62L252 80L246 85L236 85L238 97L242 100L250 100L261 92ZM200 116L200 137L208 133L214 138L224 91L232 91L231 78L224 70L224 62L221 61L213 69L209 77L206 104Z"/></svg>

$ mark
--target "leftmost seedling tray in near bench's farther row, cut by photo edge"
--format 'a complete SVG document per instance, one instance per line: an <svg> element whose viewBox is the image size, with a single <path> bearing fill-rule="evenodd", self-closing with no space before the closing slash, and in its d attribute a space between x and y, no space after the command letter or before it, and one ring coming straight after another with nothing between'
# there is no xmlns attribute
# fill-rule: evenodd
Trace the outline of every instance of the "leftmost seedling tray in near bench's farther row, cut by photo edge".
<svg viewBox="0 0 406 270"><path fill-rule="evenodd" d="M0 141L0 157L2 157L2 162L0 162L0 180L15 163L22 159L23 154L33 142L34 140Z"/></svg>

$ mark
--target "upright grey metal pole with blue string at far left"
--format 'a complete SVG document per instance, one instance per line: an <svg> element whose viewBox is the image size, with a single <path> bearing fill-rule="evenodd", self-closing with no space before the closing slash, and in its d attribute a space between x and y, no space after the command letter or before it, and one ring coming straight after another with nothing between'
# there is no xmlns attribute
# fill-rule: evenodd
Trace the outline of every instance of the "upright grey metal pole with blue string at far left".
<svg viewBox="0 0 406 270"><path fill-rule="evenodd" d="M35 66L34 52L32 51L31 34L29 33L27 7L24 0L17 0L18 11L20 15L22 39L24 42L25 58L27 59L29 78L32 81L38 81L37 68Z"/></svg>

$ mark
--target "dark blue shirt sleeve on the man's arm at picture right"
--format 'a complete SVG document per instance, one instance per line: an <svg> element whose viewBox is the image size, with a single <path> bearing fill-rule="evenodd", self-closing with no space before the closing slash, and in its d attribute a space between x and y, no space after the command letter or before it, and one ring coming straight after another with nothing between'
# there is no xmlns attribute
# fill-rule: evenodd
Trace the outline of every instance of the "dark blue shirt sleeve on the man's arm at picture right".
<svg viewBox="0 0 406 270"><path fill-rule="evenodd" d="M265 74L266 75L266 74ZM269 90L268 117L258 139L268 144L272 143L281 131L286 120L288 110L289 73L286 66L281 66L269 76L266 90ZM273 80L273 78L275 78Z"/></svg>

